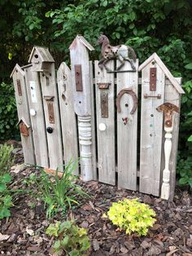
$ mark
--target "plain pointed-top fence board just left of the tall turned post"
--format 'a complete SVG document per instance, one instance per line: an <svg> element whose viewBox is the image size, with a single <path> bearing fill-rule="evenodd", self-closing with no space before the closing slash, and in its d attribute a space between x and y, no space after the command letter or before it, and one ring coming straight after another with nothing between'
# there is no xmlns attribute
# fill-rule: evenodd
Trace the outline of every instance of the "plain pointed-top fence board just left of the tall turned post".
<svg viewBox="0 0 192 256"><path fill-rule="evenodd" d="M78 138L76 113L73 105L72 74L68 65L62 62L57 72L59 108L63 139L65 165L78 160ZM79 174L78 166L74 174Z"/></svg>

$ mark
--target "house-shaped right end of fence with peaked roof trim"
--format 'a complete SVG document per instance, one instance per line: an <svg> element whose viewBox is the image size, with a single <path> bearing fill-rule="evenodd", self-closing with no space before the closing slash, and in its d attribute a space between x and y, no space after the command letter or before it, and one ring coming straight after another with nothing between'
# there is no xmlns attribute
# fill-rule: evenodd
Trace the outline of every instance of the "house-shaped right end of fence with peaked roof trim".
<svg viewBox="0 0 192 256"><path fill-rule="evenodd" d="M139 71L142 71L140 192L159 196L165 165L164 159L168 161L169 170L167 178L163 178L163 180L169 188L169 181L172 180L174 183L179 127L179 114L170 110L175 118L172 121L172 127L169 127L172 151L168 152L164 145L164 137L167 138L164 129L167 126L164 118L166 115L159 111L159 106L164 104L172 106L174 104L176 108L180 108L180 95L185 92L182 90L178 79L172 76L156 53L140 65ZM166 155L167 152L169 156L171 154L170 161ZM174 186L171 185L171 187ZM174 188L172 190L174 193Z"/></svg>

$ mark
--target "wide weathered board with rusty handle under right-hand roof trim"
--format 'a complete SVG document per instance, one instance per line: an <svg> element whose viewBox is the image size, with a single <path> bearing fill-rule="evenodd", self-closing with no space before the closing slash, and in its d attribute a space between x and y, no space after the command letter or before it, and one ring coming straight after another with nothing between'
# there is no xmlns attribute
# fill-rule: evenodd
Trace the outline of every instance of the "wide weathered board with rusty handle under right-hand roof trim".
<svg viewBox="0 0 192 256"><path fill-rule="evenodd" d="M156 90L150 90L150 68L156 68ZM155 61L142 69L142 108L139 191L159 196L163 115L156 108L164 103L164 72ZM144 98L144 95L157 96ZM159 156L159 157L158 157Z"/></svg>

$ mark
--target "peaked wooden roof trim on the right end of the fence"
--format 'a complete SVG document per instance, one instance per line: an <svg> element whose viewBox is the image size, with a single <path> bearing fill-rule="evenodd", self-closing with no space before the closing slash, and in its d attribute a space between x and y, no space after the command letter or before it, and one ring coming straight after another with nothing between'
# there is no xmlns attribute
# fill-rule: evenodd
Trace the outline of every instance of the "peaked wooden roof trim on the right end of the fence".
<svg viewBox="0 0 192 256"><path fill-rule="evenodd" d="M155 62L163 70L165 76L168 77L169 81L172 83L172 86L174 86L176 88L178 93L185 94L185 91L181 88L180 84L177 82L175 77L172 76L172 73L168 70L168 68L165 66L164 62L159 58L159 56L156 53L152 54L146 61L144 61L139 66L138 71L141 71L143 68L145 68L146 65L150 64L152 60L155 60Z"/></svg>

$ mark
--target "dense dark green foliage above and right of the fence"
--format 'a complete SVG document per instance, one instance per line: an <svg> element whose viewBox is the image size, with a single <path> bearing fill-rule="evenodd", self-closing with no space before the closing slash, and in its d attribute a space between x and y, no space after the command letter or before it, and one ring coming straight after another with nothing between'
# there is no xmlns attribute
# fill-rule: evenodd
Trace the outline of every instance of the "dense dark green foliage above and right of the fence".
<svg viewBox="0 0 192 256"><path fill-rule="evenodd" d="M100 33L111 44L133 46L140 63L157 52L174 76L183 77L186 95L181 103L178 172L185 183L192 169L192 145L187 141L192 124L190 0L2 0L0 9L0 78L4 81L16 62L27 63L33 45L49 46L56 64L68 61L68 46L77 33L95 46L93 59L99 55Z"/></svg>

